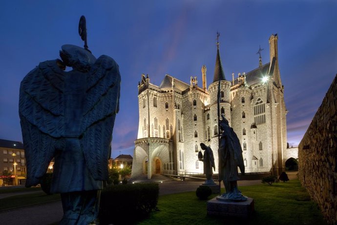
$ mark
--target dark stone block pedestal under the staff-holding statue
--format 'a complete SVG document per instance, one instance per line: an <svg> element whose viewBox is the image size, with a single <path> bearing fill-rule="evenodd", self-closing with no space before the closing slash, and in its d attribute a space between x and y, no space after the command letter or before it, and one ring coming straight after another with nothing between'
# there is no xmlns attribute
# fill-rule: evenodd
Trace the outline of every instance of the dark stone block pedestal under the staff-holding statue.
<svg viewBox="0 0 337 225"><path fill-rule="evenodd" d="M254 211L254 199L245 202L218 201L215 198L207 202L207 215L221 217L248 218Z"/></svg>

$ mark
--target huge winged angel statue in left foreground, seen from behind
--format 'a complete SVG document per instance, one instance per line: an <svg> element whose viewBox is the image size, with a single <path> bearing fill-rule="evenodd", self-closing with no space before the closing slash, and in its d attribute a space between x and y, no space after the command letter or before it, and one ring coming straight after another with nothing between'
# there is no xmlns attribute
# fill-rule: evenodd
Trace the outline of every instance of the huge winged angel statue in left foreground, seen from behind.
<svg viewBox="0 0 337 225"><path fill-rule="evenodd" d="M121 77L106 55L96 59L88 49L63 45L60 56L40 63L21 82L26 187L41 183L55 158L51 192L61 193L61 224L90 224L108 179Z"/></svg>

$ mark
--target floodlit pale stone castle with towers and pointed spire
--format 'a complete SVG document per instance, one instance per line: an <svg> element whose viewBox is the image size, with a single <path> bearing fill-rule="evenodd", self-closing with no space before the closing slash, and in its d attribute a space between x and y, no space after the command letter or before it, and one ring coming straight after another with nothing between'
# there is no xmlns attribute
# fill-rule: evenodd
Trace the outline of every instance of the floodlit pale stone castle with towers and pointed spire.
<svg viewBox="0 0 337 225"><path fill-rule="evenodd" d="M212 83L206 66L190 84L166 75L156 86L142 74L138 84L139 126L132 177L163 171L203 173L200 143L210 146L218 172L218 110L240 139L247 173L284 171L287 148L284 87L278 67L277 35L269 38L270 62L232 80L225 78L217 48ZM218 45L219 46L219 45ZM200 86L199 86L200 85Z"/></svg>

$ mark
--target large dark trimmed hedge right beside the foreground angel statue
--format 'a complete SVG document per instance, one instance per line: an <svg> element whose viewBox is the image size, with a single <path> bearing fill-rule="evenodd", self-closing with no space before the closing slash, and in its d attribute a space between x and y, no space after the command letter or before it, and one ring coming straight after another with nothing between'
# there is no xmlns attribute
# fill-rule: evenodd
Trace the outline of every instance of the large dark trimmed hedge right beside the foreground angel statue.
<svg viewBox="0 0 337 225"><path fill-rule="evenodd" d="M101 193L100 224L132 224L140 221L157 209L158 195L158 183L108 186Z"/></svg>

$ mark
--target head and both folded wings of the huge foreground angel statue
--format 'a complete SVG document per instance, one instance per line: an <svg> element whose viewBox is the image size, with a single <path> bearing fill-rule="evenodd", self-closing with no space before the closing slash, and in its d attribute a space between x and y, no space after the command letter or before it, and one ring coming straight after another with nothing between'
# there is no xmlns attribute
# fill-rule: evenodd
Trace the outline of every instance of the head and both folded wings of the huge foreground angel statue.
<svg viewBox="0 0 337 225"><path fill-rule="evenodd" d="M79 138L86 166L95 180L107 180L112 129L119 110L120 73L108 56L97 60L89 51L63 45L63 59L45 61L30 71L20 87L19 115L27 163L26 186L40 183L65 138ZM64 65L74 70L63 71ZM84 82L72 83L71 76ZM76 122L69 122L68 94L82 91ZM76 104L75 104L76 105ZM70 124L69 124L70 123ZM75 131L75 132L74 132Z"/></svg>

